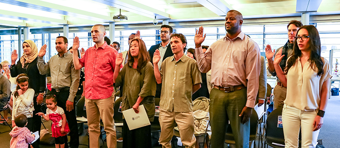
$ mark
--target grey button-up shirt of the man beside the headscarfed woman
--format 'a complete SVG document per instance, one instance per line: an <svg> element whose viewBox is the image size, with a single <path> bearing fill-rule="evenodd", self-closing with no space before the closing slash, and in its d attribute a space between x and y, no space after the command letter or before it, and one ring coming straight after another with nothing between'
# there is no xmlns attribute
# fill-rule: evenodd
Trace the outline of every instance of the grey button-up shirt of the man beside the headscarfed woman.
<svg viewBox="0 0 340 148"><path fill-rule="evenodd" d="M69 87L68 100L73 102L79 86L80 70L74 68L72 53L68 51L63 56L54 55L46 64L38 56L37 65L41 75L51 73L51 88Z"/></svg>

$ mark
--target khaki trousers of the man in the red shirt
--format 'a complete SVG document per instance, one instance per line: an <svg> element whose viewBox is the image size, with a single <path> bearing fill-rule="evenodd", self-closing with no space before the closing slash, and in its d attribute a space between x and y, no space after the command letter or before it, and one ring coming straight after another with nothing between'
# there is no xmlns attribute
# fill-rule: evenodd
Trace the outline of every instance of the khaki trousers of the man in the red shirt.
<svg viewBox="0 0 340 148"><path fill-rule="evenodd" d="M116 127L113 120L114 94L107 99L85 99L90 148L99 148L100 119L106 132L107 148L117 148Z"/></svg>

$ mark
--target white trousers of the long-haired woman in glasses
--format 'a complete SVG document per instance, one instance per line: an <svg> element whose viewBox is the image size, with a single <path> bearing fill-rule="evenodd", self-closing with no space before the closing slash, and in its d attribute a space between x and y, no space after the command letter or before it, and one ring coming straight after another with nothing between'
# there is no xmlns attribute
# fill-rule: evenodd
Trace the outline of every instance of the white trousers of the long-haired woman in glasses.
<svg viewBox="0 0 340 148"><path fill-rule="evenodd" d="M301 127L301 147L315 148L318 131L313 132L313 122L317 111L302 111L296 107L284 105L282 110L282 125L285 135L285 148L298 148Z"/></svg>

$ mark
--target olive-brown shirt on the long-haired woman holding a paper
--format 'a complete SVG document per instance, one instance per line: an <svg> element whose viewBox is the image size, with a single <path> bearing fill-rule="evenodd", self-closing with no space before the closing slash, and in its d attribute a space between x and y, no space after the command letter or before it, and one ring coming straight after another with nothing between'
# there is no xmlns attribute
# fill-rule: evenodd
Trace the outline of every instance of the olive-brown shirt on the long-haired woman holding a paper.
<svg viewBox="0 0 340 148"><path fill-rule="evenodd" d="M138 97L144 97L140 105L144 105L149 120L152 122L155 112L154 95L156 94L156 80L153 65L148 62L140 71L132 67L128 62L119 72L115 87L123 87L121 110L132 108Z"/></svg>

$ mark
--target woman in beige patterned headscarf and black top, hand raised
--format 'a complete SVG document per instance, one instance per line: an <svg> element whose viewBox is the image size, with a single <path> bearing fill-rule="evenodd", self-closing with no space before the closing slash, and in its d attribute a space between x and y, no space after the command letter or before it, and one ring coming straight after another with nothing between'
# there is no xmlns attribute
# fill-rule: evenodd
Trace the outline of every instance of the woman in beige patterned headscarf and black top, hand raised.
<svg viewBox="0 0 340 148"><path fill-rule="evenodd" d="M46 49L46 45L41 48ZM12 65L10 67L11 76L17 77L17 75L21 73L27 74L29 78L29 88L34 89L34 111L33 111L33 126L27 127L31 132L39 131L41 128L41 117L39 115L35 115L36 113L40 112L40 106L43 102L43 95L42 93L46 89L46 76L40 75L38 66L37 66L37 56L38 56L38 49L35 43L31 40L26 40L22 44L22 49L24 53L20 57L19 61L16 65L17 60L17 50L14 50L11 55ZM32 144L34 148L39 148L38 139L36 142Z"/></svg>

